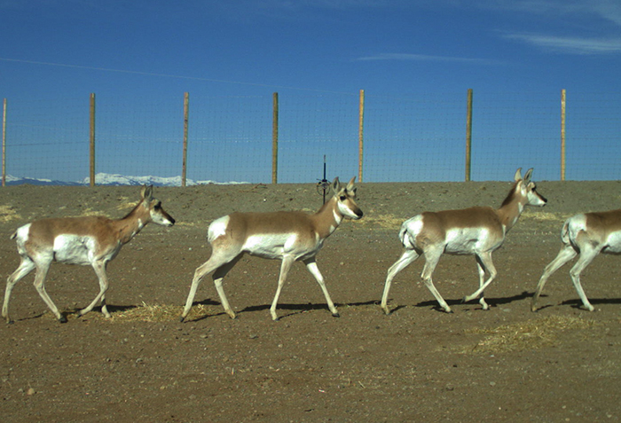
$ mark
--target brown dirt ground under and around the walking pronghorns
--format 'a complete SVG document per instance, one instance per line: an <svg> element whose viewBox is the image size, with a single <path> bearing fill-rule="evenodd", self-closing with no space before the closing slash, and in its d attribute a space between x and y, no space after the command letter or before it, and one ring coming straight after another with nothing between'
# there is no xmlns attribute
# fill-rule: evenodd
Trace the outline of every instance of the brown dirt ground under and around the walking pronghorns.
<svg viewBox="0 0 621 423"><path fill-rule="evenodd" d="M513 174L511 173L511 176ZM537 171L534 178L537 177ZM349 177L342 176L343 180ZM507 179L508 180L508 179ZM193 271L208 259L208 223L235 210L319 208L312 184L156 187L177 219L149 225L108 266L112 318L76 317L98 292L88 267L52 266L47 288L67 324L32 286L16 286L15 323L0 324L0 416L69 421L618 421L621 419L621 262L601 255L583 273L596 308L578 307L569 266L531 295L560 247L562 221L621 205L621 183L538 181L546 208L528 208L494 255L489 311L460 303L476 290L471 256L444 256L434 280L446 314L420 283L423 260L402 271L385 316L386 271L400 224L424 210L499 207L509 182L358 184L365 217L326 240L318 266L341 313L326 308L302 264L269 307L279 262L245 257L225 279L238 312L222 309L211 278L179 323ZM122 217L138 187L0 189L0 274L19 263L17 227L38 217Z"/></svg>

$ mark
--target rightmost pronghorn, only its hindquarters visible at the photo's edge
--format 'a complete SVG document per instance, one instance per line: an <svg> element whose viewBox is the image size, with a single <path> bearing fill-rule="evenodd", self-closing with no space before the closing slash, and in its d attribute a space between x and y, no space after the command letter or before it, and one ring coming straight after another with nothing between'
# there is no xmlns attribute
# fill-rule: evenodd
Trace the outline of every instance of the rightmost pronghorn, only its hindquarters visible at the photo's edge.
<svg viewBox="0 0 621 423"><path fill-rule="evenodd" d="M546 266L539 279L537 290L532 296L531 310L537 310L539 294L546 285L547 278L559 270L563 264L576 255L580 255L578 262L570 270L570 276L582 303L586 309L593 311L595 308L586 298L585 291L580 284L580 273L600 253L621 254L621 209L570 217L562 225L561 240L563 244L561 251Z"/></svg>

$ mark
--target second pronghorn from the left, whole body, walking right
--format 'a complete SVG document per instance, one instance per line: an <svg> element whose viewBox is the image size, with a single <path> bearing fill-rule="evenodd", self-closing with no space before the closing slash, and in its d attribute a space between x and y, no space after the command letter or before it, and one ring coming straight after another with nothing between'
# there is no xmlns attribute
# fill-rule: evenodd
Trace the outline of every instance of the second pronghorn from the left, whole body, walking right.
<svg viewBox="0 0 621 423"><path fill-rule="evenodd" d="M216 219L209 224L208 242L212 253L207 262L204 262L194 272L192 287L185 302L185 309L181 321L185 320L194 300L194 295L200 281L208 273L214 271L212 278L220 296L224 311L235 318L224 294L222 281L226 273L239 262L244 253L257 255L267 259L280 259L279 283L271 302L271 318L278 320L276 305L279 300L287 273L291 265L298 260L306 264L306 268L317 279L321 290L326 297L327 306L334 317L339 313L334 302L327 292L324 278L315 262L315 256L323 247L324 241L341 224L343 217L358 220L362 217L362 210L356 205L356 188L352 177L346 187L342 187L339 178L334 178L332 189L334 197L327 200L314 215L303 212L285 211L273 213L233 213Z"/></svg>

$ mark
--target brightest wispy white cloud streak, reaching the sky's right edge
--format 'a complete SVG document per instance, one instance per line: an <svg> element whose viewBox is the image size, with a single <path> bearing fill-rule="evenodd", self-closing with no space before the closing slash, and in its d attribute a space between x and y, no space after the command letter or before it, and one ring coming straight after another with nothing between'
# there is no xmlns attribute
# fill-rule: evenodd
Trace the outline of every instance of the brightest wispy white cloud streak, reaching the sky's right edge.
<svg viewBox="0 0 621 423"><path fill-rule="evenodd" d="M546 51L570 54L609 54L621 52L621 37L582 38L574 36L510 34L508 39L535 45Z"/></svg>

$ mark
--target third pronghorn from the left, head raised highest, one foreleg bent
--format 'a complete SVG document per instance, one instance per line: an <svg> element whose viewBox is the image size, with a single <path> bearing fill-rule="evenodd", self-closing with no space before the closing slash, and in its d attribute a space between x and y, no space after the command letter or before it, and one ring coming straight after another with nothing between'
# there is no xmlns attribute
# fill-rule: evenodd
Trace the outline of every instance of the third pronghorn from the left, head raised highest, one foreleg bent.
<svg viewBox="0 0 621 423"><path fill-rule="evenodd" d="M399 239L405 249L397 262L388 270L384 294L381 297L381 309L386 314L390 313L387 302L392 279L420 255L425 255L425 266L421 278L444 311L451 313L451 308L436 290L431 279L437 262L444 253L476 255L479 289L465 296L463 302L474 300L480 295L479 303L483 309L489 309L483 298L483 290L491 284L497 274L494 263L491 261L491 253L502 245L507 232L517 223L524 206L542 207L547 202L536 191L535 183L531 182L531 173L532 168L522 178L522 168L515 171L515 184L498 209L475 207L424 212L406 220L399 231ZM485 280L486 270L490 274L487 280Z"/></svg>

